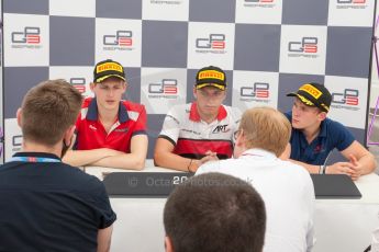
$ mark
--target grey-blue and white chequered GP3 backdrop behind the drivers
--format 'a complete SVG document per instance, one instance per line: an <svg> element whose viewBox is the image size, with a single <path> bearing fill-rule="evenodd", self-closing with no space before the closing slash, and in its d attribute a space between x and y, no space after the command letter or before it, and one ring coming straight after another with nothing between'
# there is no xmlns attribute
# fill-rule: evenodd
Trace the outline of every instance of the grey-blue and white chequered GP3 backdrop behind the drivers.
<svg viewBox="0 0 379 252"><path fill-rule="evenodd" d="M289 111L303 82L331 89L330 117L365 141L375 0L4 0L5 159L22 139L15 112L46 79L83 95L99 60L126 71L146 105L149 151L167 111L190 102L199 68L223 68L225 104Z"/></svg>

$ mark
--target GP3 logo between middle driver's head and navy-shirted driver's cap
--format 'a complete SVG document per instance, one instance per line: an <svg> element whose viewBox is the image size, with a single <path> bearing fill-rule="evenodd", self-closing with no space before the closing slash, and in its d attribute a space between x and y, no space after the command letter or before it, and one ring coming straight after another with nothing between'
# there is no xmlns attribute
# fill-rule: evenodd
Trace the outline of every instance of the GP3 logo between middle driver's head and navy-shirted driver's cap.
<svg viewBox="0 0 379 252"><path fill-rule="evenodd" d="M253 87L241 87L239 101L268 103L270 98L270 84L267 82L255 82Z"/></svg>

